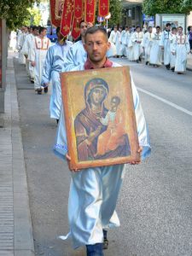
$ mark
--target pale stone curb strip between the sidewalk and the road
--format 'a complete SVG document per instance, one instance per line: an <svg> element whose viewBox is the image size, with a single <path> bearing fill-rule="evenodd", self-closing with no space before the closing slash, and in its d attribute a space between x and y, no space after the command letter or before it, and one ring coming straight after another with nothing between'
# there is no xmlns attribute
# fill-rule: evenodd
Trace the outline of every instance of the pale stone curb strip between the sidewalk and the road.
<svg viewBox="0 0 192 256"><path fill-rule="evenodd" d="M34 256L32 220L26 182L26 166L20 131L20 114L17 100L15 69L13 56L8 61L8 73L11 92L11 126L13 148L13 183L14 183L14 248L15 256Z"/></svg>

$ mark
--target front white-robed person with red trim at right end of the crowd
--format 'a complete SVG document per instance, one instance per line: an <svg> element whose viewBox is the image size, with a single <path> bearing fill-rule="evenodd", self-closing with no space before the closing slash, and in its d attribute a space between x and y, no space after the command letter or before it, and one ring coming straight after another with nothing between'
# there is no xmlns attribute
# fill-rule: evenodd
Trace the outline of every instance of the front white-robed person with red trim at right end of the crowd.
<svg viewBox="0 0 192 256"><path fill-rule="evenodd" d="M183 34L183 27L177 28L177 36L172 44L172 53L176 55L175 72L185 73L187 65L187 56L190 52L189 38Z"/></svg>

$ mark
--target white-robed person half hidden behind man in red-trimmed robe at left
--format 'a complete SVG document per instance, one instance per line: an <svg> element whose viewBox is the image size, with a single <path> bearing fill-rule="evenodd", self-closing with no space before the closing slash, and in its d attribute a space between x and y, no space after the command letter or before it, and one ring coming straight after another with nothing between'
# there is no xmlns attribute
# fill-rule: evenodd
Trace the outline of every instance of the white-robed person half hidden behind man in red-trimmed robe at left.
<svg viewBox="0 0 192 256"><path fill-rule="evenodd" d="M36 36L38 36L38 26L31 26L31 32L28 35L26 35L25 42L21 49L22 54L26 57L26 73L30 77L32 83L34 83L34 67L30 65L28 55L31 49L31 45L34 44Z"/></svg>

